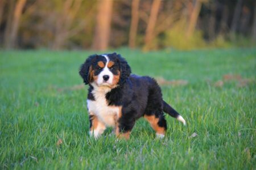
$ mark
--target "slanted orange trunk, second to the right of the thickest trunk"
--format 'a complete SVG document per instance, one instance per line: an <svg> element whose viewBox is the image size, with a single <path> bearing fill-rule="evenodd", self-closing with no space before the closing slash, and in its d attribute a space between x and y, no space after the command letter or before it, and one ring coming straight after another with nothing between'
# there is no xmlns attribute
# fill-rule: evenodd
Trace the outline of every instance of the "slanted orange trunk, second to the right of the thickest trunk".
<svg viewBox="0 0 256 170"><path fill-rule="evenodd" d="M150 49L151 41L154 38L154 28L156 24L156 19L158 17L158 11L160 8L161 0L154 0L151 5L150 18L148 20L146 35L144 39L144 50Z"/></svg>

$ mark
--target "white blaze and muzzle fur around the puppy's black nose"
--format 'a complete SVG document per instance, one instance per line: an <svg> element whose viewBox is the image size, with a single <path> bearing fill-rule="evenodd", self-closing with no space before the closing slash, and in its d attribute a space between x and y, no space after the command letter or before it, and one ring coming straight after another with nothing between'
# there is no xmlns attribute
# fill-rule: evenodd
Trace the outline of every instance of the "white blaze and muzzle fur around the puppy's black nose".
<svg viewBox="0 0 256 170"><path fill-rule="evenodd" d="M97 84L100 86L101 84L103 83L108 83L108 84L112 84L113 83L113 78L114 78L114 75L113 73L109 70L108 68L108 63L109 63L109 57L108 55L106 54L102 54L101 56L104 56L106 58L106 64L105 64L105 67L104 69L101 71L101 73L98 75L98 80L97 80ZM104 81L103 79L103 76L104 75L108 75L109 76L109 79L108 81Z"/></svg>

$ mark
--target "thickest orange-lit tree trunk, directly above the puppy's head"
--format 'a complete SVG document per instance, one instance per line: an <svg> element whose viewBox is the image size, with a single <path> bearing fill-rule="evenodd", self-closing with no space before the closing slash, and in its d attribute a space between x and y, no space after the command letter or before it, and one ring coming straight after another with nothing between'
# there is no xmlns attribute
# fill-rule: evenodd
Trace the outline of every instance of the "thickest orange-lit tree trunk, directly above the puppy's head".
<svg viewBox="0 0 256 170"><path fill-rule="evenodd" d="M109 45L113 1L98 1L97 6L98 12L92 48L94 50L106 50Z"/></svg>

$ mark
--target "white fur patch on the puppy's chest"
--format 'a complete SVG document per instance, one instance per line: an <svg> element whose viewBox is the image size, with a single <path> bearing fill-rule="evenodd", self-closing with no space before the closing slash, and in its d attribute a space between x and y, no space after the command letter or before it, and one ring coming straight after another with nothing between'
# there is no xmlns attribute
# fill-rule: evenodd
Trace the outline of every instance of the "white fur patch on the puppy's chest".
<svg viewBox="0 0 256 170"><path fill-rule="evenodd" d="M97 116L98 120L106 126L115 126L119 114L119 107L109 106L106 101L106 93L110 89L93 90L92 94L95 100L87 100L88 112Z"/></svg>

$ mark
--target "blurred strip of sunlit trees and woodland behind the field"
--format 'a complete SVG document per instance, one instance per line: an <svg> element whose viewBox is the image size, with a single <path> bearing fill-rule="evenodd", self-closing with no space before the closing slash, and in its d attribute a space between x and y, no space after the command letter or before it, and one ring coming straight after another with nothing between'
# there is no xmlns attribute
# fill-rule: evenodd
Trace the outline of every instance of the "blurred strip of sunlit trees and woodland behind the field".
<svg viewBox="0 0 256 170"><path fill-rule="evenodd" d="M0 0L3 49L195 49L255 41L255 0Z"/></svg>

